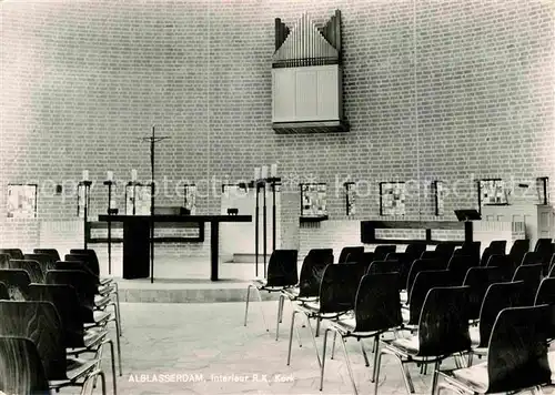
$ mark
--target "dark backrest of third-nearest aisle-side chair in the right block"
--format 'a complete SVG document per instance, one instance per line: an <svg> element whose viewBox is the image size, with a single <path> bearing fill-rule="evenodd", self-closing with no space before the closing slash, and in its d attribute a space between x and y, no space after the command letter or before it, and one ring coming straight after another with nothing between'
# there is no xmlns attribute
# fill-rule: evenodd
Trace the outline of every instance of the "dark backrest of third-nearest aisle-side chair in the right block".
<svg viewBox="0 0 555 395"><path fill-rule="evenodd" d="M355 332L384 332L401 326L398 273L362 277L354 303Z"/></svg>

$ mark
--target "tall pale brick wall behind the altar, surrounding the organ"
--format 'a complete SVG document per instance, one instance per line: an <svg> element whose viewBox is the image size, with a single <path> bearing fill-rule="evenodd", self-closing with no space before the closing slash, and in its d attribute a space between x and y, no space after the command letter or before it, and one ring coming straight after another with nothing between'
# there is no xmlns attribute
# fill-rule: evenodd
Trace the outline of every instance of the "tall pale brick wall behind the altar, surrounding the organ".
<svg viewBox="0 0 555 395"><path fill-rule="evenodd" d="M309 11L324 21L336 8L351 132L276 135L273 19L291 24ZM553 11L543 0L2 2L0 242L17 234L32 244L6 220L8 182L39 183L38 221L71 220L81 171L97 180L98 214L111 170L121 210L131 169L149 178L139 138L152 125L172 138L158 148L158 181L168 185L160 204L180 204L175 185L195 181L209 195L199 213L218 212L211 183L219 190L278 162L293 191L282 205L284 246L310 231L299 229L300 181L329 184L330 216L355 232L353 243L350 222L379 217L380 181L415 181L406 219L433 217L435 179L458 190L446 196L446 220L475 205L477 178L548 175L555 195ZM350 219L347 178L370 185Z"/></svg>

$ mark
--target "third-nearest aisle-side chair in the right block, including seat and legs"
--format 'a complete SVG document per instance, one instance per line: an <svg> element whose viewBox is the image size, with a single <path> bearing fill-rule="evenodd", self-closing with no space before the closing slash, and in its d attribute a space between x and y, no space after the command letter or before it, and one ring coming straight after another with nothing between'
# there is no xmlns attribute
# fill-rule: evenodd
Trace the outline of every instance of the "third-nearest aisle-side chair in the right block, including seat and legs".
<svg viewBox="0 0 555 395"><path fill-rule="evenodd" d="M400 327L403 324L401 316L401 301L398 298L398 273L372 274L362 277L356 292L354 303L354 316L340 318L339 321L330 321L330 325L324 333L324 344L322 353L322 371L320 375L320 391L323 388L325 351L327 343L327 332L333 332L333 344L335 345L335 336L341 336L341 345L345 355L345 362L353 386L353 392L357 394L356 384L349 359L349 353L345 347L345 338L356 338L361 343L363 355L365 356L363 338L374 338L374 348L380 348L380 335L390 330ZM372 382L375 379L376 358L375 352L374 369ZM332 352L333 357L333 352Z"/></svg>

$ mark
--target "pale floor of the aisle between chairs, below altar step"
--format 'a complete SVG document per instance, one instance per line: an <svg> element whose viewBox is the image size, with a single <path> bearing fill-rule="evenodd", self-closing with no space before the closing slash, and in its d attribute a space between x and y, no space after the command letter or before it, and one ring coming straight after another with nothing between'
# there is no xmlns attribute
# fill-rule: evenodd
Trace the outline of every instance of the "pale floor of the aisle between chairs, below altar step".
<svg viewBox="0 0 555 395"><path fill-rule="evenodd" d="M118 379L118 392L137 395L352 393L339 344L335 359L326 358L324 391L319 391L319 368L307 328L300 328L303 346L299 347L294 340L292 363L286 366L291 311L286 307L281 336L275 341L276 304L263 302L262 305L271 333L263 328L260 303L251 305L246 327L243 326L243 303L122 304L123 376ZM321 352L322 337L317 342ZM350 341L347 348L360 394L373 393L371 367L364 366L359 344ZM372 358L371 344L366 348ZM108 363L105 369L108 373ZM416 393L428 393L431 375L421 375L415 367L411 372ZM110 389L110 374L108 379ZM380 394L405 394L398 365L391 357L384 359Z"/></svg>

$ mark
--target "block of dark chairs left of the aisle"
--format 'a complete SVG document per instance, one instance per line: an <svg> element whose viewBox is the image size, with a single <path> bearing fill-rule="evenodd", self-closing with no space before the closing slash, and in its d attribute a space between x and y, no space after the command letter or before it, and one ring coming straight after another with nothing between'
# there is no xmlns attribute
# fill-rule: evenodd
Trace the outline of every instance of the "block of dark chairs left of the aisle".
<svg viewBox="0 0 555 395"><path fill-rule="evenodd" d="M99 277L98 267L92 250L71 250L64 261L56 250L0 250L0 389L34 394L80 386L84 394L100 378L105 394L101 358L109 345L117 393L114 346L107 325L115 324L121 376L118 288L111 278ZM88 353L93 357L79 357ZM24 363L14 365L14 358Z"/></svg>

